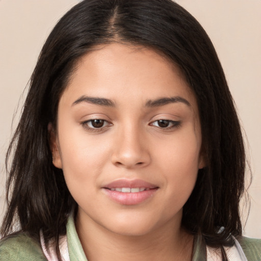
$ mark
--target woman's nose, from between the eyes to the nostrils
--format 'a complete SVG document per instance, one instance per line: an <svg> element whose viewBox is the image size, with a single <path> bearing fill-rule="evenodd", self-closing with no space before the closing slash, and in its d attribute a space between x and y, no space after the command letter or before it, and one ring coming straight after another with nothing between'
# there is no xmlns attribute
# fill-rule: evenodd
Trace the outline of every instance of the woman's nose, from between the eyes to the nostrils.
<svg viewBox="0 0 261 261"><path fill-rule="evenodd" d="M115 138L112 163L126 169L149 165L151 158L145 135L134 126L119 129Z"/></svg>

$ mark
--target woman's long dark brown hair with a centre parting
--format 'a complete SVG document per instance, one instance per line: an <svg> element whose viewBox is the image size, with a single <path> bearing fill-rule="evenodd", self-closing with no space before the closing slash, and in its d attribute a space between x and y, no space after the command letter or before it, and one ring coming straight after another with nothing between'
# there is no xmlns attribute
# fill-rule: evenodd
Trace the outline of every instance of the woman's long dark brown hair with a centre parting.
<svg viewBox="0 0 261 261"><path fill-rule="evenodd" d="M37 239L42 229L45 240L55 238L58 247L76 203L62 170L52 163L47 126L56 126L59 99L75 63L93 46L111 42L153 48L182 71L197 99L206 162L184 206L182 225L200 234L207 245L231 246L231 235L242 234L241 128L211 40L197 20L171 0L86 0L57 23L41 50L7 152L8 209L1 233L12 232L17 222Z"/></svg>

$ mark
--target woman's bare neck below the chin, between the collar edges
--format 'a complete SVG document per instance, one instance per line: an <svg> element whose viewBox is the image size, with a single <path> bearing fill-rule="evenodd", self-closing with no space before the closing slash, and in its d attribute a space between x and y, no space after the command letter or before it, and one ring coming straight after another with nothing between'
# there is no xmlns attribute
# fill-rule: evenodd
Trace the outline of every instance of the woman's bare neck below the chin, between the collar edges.
<svg viewBox="0 0 261 261"><path fill-rule="evenodd" d="M77 218L76 230L88 261L189 261L193 236L180 225L159 227L141 236L117 234ZM171 223L171 222L170 222Z"/></svg>

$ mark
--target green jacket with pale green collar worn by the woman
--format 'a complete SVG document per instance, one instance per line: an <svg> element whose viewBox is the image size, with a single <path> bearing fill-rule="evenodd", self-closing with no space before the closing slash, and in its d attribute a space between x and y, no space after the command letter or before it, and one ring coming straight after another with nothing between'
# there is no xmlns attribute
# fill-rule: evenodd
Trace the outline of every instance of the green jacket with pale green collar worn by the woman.
<svg viewBox="0 0 261 261"><path fill-rule="evenodd" d="M72 218L69 218L66 230L70 261L87 261ZM248 261L261 261L261 240L245 237L237 238L237 240ZM199 239L195 239L192 260L205 261L205 253L205 246L200 244ZM0 261L23 260L47 261L39 242L32 239L26 232L19 232L0 241Z"/></svg>

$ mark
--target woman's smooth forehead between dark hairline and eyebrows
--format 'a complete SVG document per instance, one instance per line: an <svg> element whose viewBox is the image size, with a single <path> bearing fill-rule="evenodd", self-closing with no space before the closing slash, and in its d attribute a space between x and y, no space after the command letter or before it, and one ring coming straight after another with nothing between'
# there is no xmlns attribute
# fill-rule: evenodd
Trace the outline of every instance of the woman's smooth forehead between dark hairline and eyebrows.
<svg viewBox="0 0 261 261"><path fill-rule="evenodd" d="M110 98L116 104L128 98L133 105L137 100L183 96L196 106L173 62L153 49L122 43L95 46L77 62L63 96L72 100L82 95Z"/></svg>

